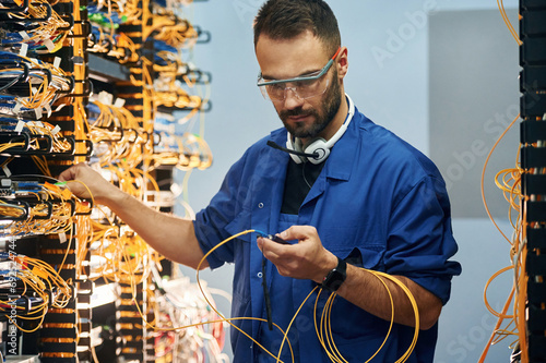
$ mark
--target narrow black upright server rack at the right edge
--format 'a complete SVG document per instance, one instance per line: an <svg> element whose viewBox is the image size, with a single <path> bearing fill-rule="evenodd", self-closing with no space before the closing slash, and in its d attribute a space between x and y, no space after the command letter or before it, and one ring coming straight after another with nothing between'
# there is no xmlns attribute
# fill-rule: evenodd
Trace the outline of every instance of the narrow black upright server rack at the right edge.
<svg viewBox="0 0 546 363"><path fill-rule="evenodd" d="M546 362L546 4L520 1L521 167L526 240L524 361Z"/></svg>

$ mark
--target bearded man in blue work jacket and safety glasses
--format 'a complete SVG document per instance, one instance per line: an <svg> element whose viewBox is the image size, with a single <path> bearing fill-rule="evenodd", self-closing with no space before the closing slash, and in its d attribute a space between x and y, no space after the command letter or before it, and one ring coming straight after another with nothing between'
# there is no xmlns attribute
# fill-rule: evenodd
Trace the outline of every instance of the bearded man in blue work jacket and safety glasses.
<svg viewBox="0 0 546 363"><path fill-rule="evenodd" d="M324 1L266 1L256 19L254 48L258 84L284 128L245 153L194 221L143 207L83 165L60 179L87 184L96 202L159 253L188 266L197 267L205 253L245 230L280 232L292 242L247 233L206 258L211 268L235 263L232 316L261 319L234 322L253 339L232 330L236 362L275 362L258 343L276 356L283 335L264 320L286 330L298 308L288 331L296 362L330 362L327 350L348 362L365 362L376 352L373 362L397 361L412 343L416 314L400 285L370 270L389 274L411 291L420 330L407 362L432 362L437 320L451 277L461 271L448 261L456 244L441 176L345 95L347 48ZM86 196L78 183L71 189ZM317 289L304 303L317 287L320 295ZM317 337L324 308L336 348L322 347ZM292 362L287 343L281 359Z"/></svg>

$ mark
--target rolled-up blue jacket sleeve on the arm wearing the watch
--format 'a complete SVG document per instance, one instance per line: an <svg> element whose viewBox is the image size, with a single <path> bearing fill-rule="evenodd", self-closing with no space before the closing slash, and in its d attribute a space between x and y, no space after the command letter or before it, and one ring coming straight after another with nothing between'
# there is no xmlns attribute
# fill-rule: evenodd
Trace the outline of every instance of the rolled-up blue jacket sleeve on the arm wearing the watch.
<svg viewBox="0 0 546 363"><path fill-rule="evenodd" d="M389 231L387 273L411 278L446 304L461 265L449 261L458 246L443 181L427 176L416 183L394 206Z"/></svg>

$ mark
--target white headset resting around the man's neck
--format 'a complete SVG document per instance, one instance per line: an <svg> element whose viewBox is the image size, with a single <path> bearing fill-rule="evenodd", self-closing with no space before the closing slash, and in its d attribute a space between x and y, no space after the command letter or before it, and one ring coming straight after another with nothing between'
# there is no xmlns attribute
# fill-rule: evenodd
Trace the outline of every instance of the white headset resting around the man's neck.
<svg viewBox="0 0 546 363"><path fill-rule="evenodd" d="M306 159L311 161L312 164L321 164L330 155L330 149L334 144L343 136L345 131L347 130L351 120L353 120L353 116L355 114L355 104L348 95L345 95L348 100L348 113L345 122L341 125L341 128L335 132L335 134L329 140L325 141L322 137L318 137L313 140L305 149L302 149L304 145L301 140L297 138L295 141L292 140L290 133L287 135L286 140L286 148L292 152L297 152L298 154L308 154L307 156L290 154L292 159L296 164L305 162Z"/></svg>

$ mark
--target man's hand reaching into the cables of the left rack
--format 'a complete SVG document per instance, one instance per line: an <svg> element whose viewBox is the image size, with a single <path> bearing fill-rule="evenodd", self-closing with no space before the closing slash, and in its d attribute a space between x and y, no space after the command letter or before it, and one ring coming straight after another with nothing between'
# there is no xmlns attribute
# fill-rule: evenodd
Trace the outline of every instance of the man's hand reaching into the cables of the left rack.
<svg viewBox="0 0 546 363"><path fill-rule="evenodd" d="M61 172L59 180L67 182L67 187L76 196L86 199L93 196L95 203L107 204L108 199L120 193L118 187L83 162Z"/></svg>

